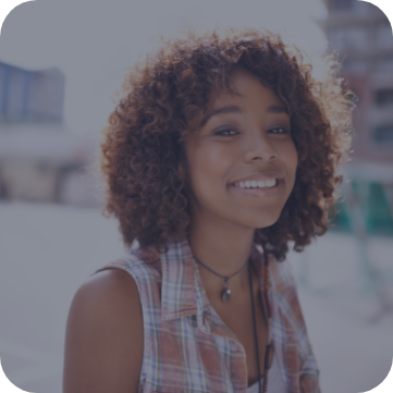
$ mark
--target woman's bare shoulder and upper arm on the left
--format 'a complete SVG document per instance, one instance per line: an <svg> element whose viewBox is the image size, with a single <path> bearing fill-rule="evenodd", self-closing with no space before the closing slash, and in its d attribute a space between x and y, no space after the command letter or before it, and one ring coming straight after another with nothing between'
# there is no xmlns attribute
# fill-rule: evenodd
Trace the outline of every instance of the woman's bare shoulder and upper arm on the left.
<svg viewBox="0 0 393 393"><path fill-rule="evenodd" d="M63 392L137 392L144 352L135 280L101 271L76 292L69 312Z"/></svg>

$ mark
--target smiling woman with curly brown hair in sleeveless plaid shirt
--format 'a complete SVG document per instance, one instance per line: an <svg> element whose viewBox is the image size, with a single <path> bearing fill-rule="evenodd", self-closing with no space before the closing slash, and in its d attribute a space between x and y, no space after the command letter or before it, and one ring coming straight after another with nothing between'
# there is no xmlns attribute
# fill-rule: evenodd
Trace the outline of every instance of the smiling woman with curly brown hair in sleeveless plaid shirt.
<svg viewBox="0 0 393 393"><path fill-rule="evenodd" d="M351 143L327 64L230 29L135 65L101 145L130 251L73 299L64 393L319 392L285 255L327 231Z"/></svg>

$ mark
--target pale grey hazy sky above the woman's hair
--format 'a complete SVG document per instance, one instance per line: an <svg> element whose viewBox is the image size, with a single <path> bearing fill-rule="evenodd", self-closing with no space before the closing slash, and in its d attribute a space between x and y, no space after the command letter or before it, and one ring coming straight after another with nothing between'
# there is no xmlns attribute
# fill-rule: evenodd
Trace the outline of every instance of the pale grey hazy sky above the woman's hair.
<svg viewBox="0 0 393 393"><path fill-rule="evenodd" d="M114 109L122 82L159 36L179 36L194 24L265 27L307 52L327 38L314 19L322 0L37 0L16 5L0 32L0 61L28 70L59 67L66 77L64 119L74 133L99 133Z"/></svg>

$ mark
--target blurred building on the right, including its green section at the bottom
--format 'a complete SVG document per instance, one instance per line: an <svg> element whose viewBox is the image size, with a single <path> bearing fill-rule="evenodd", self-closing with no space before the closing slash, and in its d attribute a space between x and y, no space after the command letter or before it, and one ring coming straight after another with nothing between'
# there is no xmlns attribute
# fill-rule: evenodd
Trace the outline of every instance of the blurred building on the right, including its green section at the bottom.
<svg viewBox="0 0 393 393"><path fill-rule="evenodd" d="M392 25L388 15L370 2L323 2L329 15L317 23L327 35L329 52L339 53L343 76L359 99L353 118L356 132L353 159L345 169L353 191L346 187L352 195L344 193L346 202L339 210L351 216L356 208L347 201L355 197L368 232L378 226L382 232L393 233Z"/></svg>

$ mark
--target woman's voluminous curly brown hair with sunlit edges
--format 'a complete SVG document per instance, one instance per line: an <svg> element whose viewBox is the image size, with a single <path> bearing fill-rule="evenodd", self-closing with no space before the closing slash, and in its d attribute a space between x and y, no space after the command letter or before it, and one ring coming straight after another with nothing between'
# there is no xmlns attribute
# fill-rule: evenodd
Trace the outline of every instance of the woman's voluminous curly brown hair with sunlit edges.
<svg viewBox="0 0 393 393"><path fill-rule="evenodd" d="M124 244L136 240L140 247L167 251L169 242L187 237L191 211L179 171L184 140L197 132L193 120L205 113L210 95L231 90L231 73L238 69L281 99L298 153L295 185L279 220L257 229L254 242L283 260L290 241L302 251L326 233L342 182L339 167L348 160L356 97L340 77L335 56L324 57L324 77L317 81L296 47L253 28L202 36L188 30L185 39L165 40L136 62L101 143L102 213L119 220Z"/></svg>

